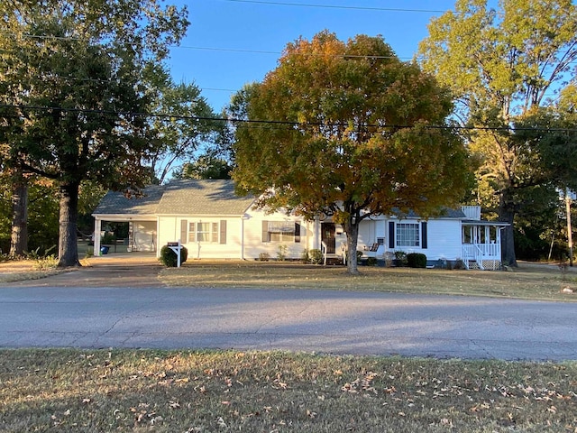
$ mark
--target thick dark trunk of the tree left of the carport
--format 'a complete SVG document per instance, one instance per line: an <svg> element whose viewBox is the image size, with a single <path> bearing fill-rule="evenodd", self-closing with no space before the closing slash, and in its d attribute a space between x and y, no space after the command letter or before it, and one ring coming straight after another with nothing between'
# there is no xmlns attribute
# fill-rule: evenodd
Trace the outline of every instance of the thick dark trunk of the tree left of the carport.
<svg viewBox="0 0 577 433"><path fill-rule="evenodd" d="M60 233L58 256L60 267L80 266L78 262L78 182L60 186Z"/></svg>

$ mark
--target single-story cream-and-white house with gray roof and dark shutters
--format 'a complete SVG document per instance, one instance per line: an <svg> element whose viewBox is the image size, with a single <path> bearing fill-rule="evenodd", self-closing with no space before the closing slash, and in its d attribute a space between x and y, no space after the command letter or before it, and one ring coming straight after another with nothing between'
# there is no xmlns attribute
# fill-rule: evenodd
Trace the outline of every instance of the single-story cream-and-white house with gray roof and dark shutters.
<svg viewBox="0 0 577 433"><path fill-rule="evenodd" d="M343 257L346 235L331 218L306 221L282 212L252 207L254 198L234 194L232 180L173 180L151 186L142 198L109 192L96 207L95 233L105 222L127 222L128 251L154 252L180 241L189 259L258 259L283 253L298 259L318 249ZM429 265L462 261L467 268L499 269L498 222L481 220L480 207L448 210L443 217L417 215L369 217L359 226L363 257L384 260L393 253L425 253ZM95 251L100 239L96 236Z"/></svg>

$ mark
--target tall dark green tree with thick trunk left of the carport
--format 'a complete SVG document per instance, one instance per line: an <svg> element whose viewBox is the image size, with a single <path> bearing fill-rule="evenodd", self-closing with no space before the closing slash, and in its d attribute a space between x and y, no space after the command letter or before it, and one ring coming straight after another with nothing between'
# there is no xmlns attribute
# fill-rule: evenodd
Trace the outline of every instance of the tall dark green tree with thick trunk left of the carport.
<svg viewBox="0 0 577 433"><path fill-rule="evenodd" d="M12 0L0 5L5 166L60 189L60 265L77 265L78 187L138 188L151 152L142 84L178 43L186 8L157 0Z"/></svg>

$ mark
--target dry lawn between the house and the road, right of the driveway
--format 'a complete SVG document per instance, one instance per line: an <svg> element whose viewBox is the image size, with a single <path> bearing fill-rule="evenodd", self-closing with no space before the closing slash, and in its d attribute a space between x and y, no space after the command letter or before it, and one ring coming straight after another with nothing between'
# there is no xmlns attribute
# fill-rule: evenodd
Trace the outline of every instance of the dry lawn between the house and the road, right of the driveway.
<svg viewBox="0 0 577 433"><path fill-rule="evenodd" d="M513 272L361 267L298 263L188 262L160 272L169 286L262 289L359 290L503 298L577 300L577 273L553 265L522 264ZM573 293L565 293L572 290Z"/></svg>

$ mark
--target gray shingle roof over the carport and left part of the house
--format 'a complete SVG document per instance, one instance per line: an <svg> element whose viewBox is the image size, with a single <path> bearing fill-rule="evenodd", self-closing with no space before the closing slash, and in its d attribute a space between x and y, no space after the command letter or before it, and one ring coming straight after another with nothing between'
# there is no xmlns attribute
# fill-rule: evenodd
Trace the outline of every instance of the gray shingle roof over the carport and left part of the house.
<svg viewBox="0 0 577 433"><path fill-rule="evenodd" d="M234 194L233 180L173 180L150 186L142 198L108 192L95 215L243 215L254 198Z"/></svg>

